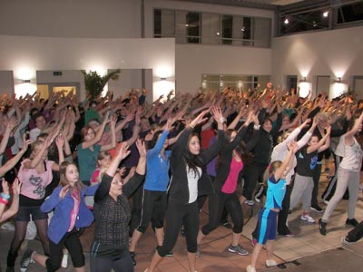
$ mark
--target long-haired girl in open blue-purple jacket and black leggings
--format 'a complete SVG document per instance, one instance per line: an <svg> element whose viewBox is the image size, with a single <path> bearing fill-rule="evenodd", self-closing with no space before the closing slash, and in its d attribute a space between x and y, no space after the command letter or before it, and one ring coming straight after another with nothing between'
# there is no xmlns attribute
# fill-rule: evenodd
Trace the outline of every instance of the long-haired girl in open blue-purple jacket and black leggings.
<svg viewBox="0 0 363 272"><path fill-rule="evenodd" d="M93 213L87 208L84 196L94 195L98 185L85 187L79 179L79 172L74 162L64 161L60 165L60 186L45 199L41 210L48 213L54 210L48 228L49 257L26 249L20 261L20 270L25 272L31 263L46 267L47 271L56 271L61 267L63 248L67 248L72 257L75 271L83 272L84 255L78 236L78 229L93 222Z"/></svg>

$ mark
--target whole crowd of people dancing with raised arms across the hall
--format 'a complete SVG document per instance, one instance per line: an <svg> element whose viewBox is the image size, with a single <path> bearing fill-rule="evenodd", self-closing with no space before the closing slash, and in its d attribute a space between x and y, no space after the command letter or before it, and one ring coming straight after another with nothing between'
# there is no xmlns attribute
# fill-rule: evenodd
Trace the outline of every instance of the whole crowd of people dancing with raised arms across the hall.
<svg viewBox="0 0 363 272"><path fill-rule="evenodd" d="M302 199L299 219L308 223L315 222L310 209L324 211L318 189L329 154L337 169L324 194L329 204L317 231L327 234L329 217L348 189L346 223L355 229L342 243L362 236L355 209L363 101L354 95L302 98L269 83L263 90L170 92L152 103L146 96L132 90L113 98L108 92L78 102L72 92L52 93L46 100L36 93L3 95L0 221L15 222L7 272L15 271L30 221L44 252L27 248L21 271L34 262L56 271L68 255L74 269L84 271L80 236L94 221L91 271L134 271L138 241L151 223L156 250L145 271L155 271L172 255L182 229L189 271L194 272L202 239L221 222L231 224L227 250L249 254L240 246L241 205L256 201L264 205L246 269L256 271L263 245L266 266L276 266L276 235L294 236L288 227L290 210ZM205 198L209 219L200 226Z"/></svg>

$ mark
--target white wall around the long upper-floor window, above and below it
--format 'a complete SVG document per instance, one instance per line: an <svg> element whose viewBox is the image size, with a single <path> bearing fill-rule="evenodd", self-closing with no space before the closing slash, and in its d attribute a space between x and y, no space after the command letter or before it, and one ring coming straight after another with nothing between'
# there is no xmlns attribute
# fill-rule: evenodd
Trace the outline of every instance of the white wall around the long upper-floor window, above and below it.
<svg viewBox="0 0 363 272"><path fill-rule="evenodd" d="M182 1L145 1L145 36L153 36L153 9L200 11L224 15L267 17L273 12L227 5L206 5ZM271 23L273 25L273 23ZM201 74L271 73L271 50L228 45L176 44L176 90L194 92L201 87Z"/></svg>

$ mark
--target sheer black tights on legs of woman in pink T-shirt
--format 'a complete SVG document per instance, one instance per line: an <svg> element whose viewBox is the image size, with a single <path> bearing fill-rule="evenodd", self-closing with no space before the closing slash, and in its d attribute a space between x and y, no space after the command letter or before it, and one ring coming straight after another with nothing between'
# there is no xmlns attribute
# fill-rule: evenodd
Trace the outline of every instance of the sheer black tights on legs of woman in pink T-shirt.
<svg viewBox="0 0 363 272"><path fill-rule="evenodd" d="M19 248L22 246L23 241L25 240L26 228L28 226L29 221L17 221L15 220L15 234L14 238L11 242L11 246L9 252L7 253L6 265L7 267L14 267L15 260L19 251ZM46 236L46 232L48 230L48 219L34 220L36 231L40 241L42 242L42 246L44 249L44 254L49 255L49 240Z"/></svg>

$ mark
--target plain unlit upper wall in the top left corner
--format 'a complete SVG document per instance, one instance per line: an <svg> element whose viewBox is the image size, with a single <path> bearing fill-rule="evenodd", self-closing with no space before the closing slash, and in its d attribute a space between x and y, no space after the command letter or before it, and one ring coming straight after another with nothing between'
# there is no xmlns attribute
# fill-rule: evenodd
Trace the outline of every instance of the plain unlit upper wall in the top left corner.
<svg viewBox="0 0 363 272"><path fill-rule="evenodd" d="M0 34L141 37L141 0L1 0Z"/></svg>

